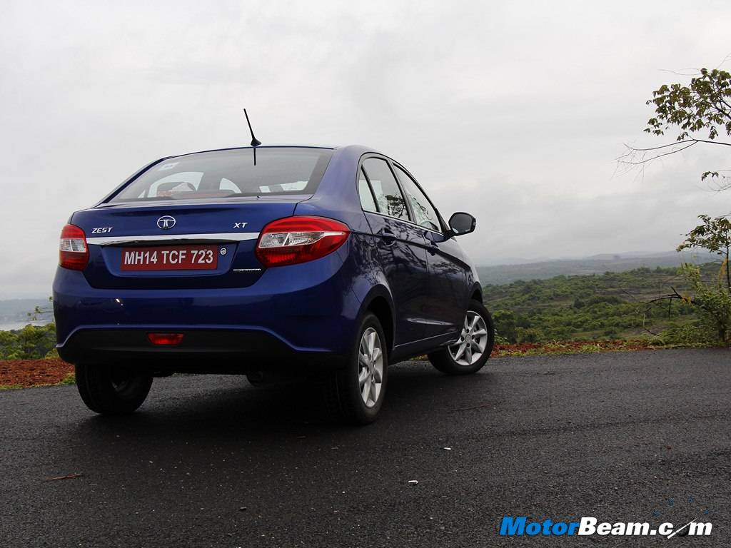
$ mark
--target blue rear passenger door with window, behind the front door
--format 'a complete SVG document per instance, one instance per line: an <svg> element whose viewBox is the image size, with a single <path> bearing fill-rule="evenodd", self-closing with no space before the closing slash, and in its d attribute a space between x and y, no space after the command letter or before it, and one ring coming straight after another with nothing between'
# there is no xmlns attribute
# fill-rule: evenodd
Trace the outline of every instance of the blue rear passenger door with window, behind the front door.
<svg viewBox="0 0 731 548"><path fill-rule="evenodd" d="M363 160L358 192L393 297L394 346L426 338L431 335L431 288L424 231L412 222L409 206L386 159L369 156Z"/></svg>

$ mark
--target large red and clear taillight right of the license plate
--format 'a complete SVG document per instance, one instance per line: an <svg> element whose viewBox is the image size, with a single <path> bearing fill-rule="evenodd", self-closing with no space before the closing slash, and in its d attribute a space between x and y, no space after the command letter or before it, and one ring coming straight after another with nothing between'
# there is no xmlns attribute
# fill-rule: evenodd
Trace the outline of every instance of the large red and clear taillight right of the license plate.
<svg viewBox="0 0 731 548"><path fill-rule="evenodd" d="M349 234L346 224L330 218L281 218L262 230L257 243L257 259L266 267L314 261L342 246Z"/></svg>

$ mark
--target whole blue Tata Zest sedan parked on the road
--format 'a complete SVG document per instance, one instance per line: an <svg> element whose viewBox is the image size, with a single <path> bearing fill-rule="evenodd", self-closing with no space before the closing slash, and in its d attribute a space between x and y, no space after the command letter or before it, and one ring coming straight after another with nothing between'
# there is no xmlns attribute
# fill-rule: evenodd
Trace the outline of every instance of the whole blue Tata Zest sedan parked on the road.
<svg viewBox="0 0 731 548"><path fill-rule="evenodd" d="M102 414L171 373L293 374L349 422L388 367L474 373L494 330L477 272L397 161L362 146L259 146L155 161L69 219L53 282L58 354Z"/></svg>

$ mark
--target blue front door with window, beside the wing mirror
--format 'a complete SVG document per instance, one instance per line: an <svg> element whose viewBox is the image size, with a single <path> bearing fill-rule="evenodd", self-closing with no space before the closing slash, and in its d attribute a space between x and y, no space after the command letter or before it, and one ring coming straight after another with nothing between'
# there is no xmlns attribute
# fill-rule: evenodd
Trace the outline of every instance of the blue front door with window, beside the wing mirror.
<svg viewBox="0 0 731 548"><path fill-rule="evenodd" d="M414 221L427 240L430 294L428 316L432 334L444 335L461 329L467 308L467 265L458 243L444 237L446 227L416 180L404 167L394 164L401 188L409 201Z"/></svg>

